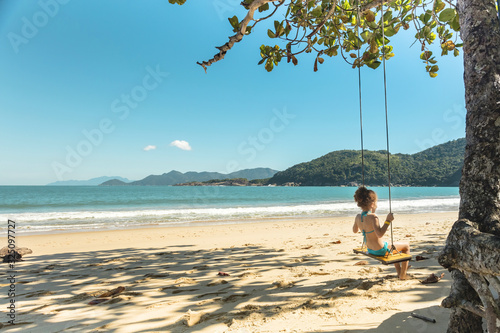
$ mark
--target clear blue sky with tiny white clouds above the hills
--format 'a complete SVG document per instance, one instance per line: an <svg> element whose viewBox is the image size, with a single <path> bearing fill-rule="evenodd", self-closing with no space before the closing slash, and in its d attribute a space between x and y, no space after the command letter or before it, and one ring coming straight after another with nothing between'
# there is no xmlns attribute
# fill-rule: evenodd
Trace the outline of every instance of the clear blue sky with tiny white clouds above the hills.
<svg viewBox="0 0 500 333"><path fill-rule="evenodd" d="M0 184L284 170L359 149L357 71L341 58L268 73L259 46L276 40L261 23L207 74L196 65L239 2L0 1ZM393 153L465 136L462 57L438 56L431 79L413 36L394 37L387 62ZM366 149L385 149L382 75L362 69Z"/></svg>

